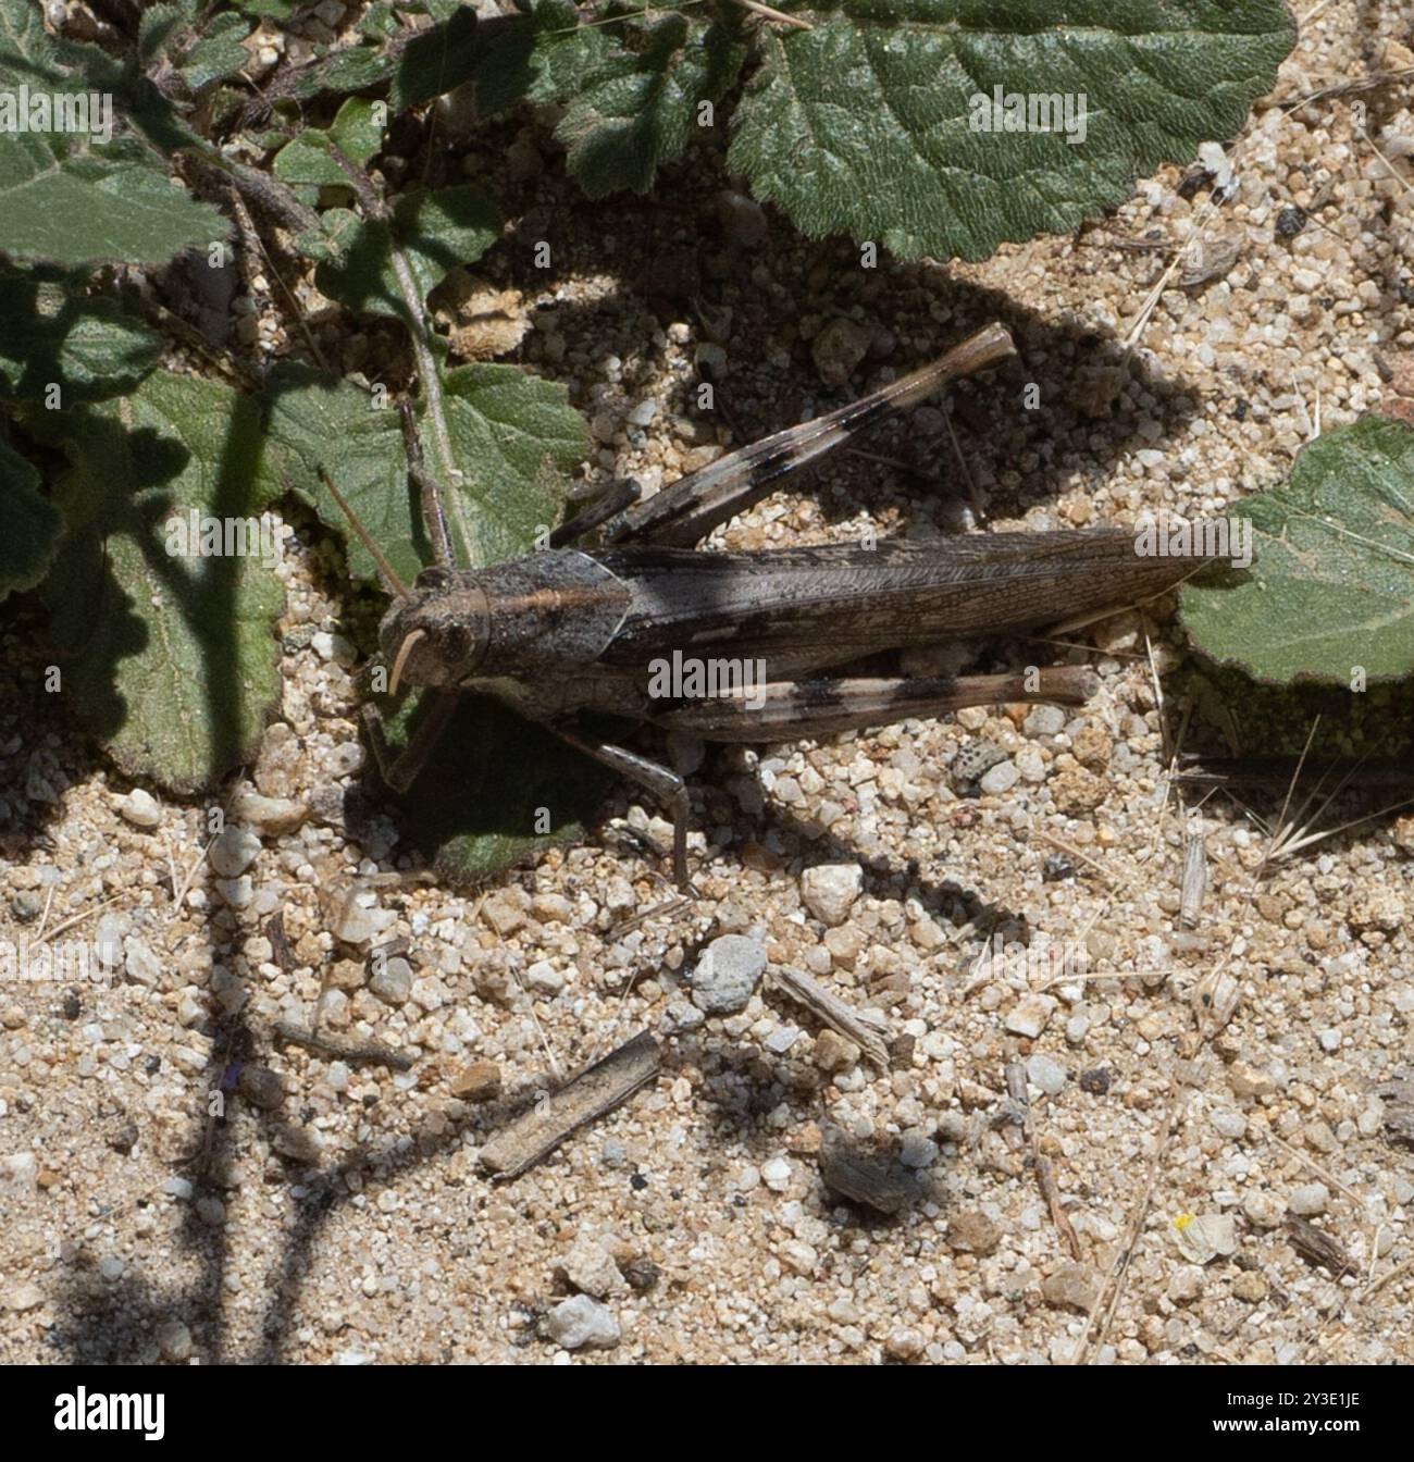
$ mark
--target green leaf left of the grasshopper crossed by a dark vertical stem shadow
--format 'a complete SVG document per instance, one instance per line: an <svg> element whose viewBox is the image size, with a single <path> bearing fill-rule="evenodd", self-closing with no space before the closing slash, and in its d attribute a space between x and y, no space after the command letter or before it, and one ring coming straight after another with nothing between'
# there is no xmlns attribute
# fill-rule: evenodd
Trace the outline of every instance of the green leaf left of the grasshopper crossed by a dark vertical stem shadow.
<svg viewBox="0 0 1414 1462"><path fill-rule="evenodd" d="M26 421L73 463L57 488L69 532L45 580L63 690L126 775L209 788L254 754L279 702L284 589L259 554L168 550L192 512L249 526L268 506L256 406L155 373L121 401L54 415Z"/></svg>

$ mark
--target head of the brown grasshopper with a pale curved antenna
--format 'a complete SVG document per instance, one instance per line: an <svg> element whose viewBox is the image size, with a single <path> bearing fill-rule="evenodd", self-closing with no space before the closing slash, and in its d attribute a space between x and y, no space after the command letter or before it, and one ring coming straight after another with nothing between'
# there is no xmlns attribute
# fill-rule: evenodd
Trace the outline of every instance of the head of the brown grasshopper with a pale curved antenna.
<svg viewBox="0 0 1414 1462"><path fill-rule="evenodd" d="M424 569L379 626L379 643L398 684L453 687L481 662L490 640L485 591L469 573Z"/></svg>

